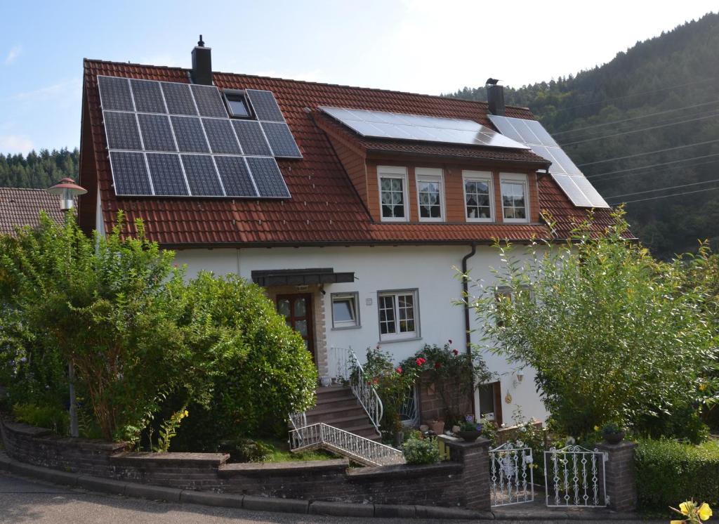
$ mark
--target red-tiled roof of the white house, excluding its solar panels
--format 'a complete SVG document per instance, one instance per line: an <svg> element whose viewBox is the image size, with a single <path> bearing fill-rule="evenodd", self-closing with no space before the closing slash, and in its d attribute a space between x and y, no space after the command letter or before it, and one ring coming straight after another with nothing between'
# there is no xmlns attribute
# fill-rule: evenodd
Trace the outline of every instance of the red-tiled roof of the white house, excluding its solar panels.
<svg viewBox="0 0 719 524"><path fill-rule="evenodd" d="M117 212L122 210L130 234L134 233L134 219L141 218L145 221L148 238L170 247L459 244L489 241L495 237L528 240L533 236L552 236L546 224L398 224L373 221L332 147L328 133L333 129L338 136L342 134L347 141L354 142L358 150L366 152L521 162L528 168L541 168L542 164L546 167L546 161L528 151L416 144L353 136L352 132L342 129L341 125L317 110L319 106L338 106L395 111L470 119L491 127L486 103L253 75L214 73L214 83L219 88L273 91L303 153L301 160L278 160L292 198L285 201L118 198L111 187L97 75L188 83L188 70L183 68L85 60L81 185L89 193L81 197L83 229L94 226L95 198L99 190L106 230L116 225ZM507 114L533 119L528 109L508 107ZM91 167L88 167L88 162ZM89 180L88 174L94 178L94 173L97 174L96 180ZM551 178L545 177L541 188L541 208L586 216L586 210L574 208ZM607 213L608 210L600 210L595 216L606 220ZM561 218L562 224L568 224L566 217ZM567 231L557 226L555 235L562 237Z"/></svg>

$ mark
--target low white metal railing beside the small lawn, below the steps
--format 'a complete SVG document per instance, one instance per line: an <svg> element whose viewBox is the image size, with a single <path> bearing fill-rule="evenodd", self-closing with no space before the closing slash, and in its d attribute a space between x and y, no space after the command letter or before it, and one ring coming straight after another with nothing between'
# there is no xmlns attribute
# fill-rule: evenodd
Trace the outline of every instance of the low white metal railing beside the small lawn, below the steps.
<svg viewBox="0 0 719 524"><path fill-rule="evenodd" d="M389 466L405 461L404 454L398 449L325 423L290 431L290 451L312 448L334 451L365 466Z"/></svg>

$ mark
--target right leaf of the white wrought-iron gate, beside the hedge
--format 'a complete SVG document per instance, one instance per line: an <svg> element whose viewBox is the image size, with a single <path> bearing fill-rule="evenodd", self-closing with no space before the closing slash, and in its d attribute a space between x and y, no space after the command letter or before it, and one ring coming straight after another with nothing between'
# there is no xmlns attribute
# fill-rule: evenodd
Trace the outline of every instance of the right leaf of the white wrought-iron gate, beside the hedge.
<svg viewBox="0 0 719 524"><path fill-rule="evenodd" d="M609 503L605 479L608 456L581 446L544 451L546 505L604 507Z"/></svg>

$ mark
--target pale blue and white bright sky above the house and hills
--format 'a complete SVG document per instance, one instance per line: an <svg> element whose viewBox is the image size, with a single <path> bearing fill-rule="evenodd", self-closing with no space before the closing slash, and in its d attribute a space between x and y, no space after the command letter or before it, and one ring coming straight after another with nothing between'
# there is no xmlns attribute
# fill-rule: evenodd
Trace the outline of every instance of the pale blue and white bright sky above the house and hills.
<svg viewBox="0 0 719 524"><path fill-rule="evenodd" d="M0 154L78 147L83 58L451 93L549 81L716 10L715 0L0 0Z"/></svg>

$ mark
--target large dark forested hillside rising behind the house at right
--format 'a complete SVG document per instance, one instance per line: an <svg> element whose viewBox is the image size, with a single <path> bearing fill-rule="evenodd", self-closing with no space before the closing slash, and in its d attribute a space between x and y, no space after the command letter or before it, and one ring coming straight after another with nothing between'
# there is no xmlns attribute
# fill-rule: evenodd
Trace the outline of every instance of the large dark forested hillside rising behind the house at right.
<svg viewBox="0 0 719 524"><path fill-rule="evenodd" d="M707 14L601 67L505 88L505 101L528 106L609 203L627 202L654 254L671 257L698 238L719 247L718 86L719 14ZM451 96L487 99L484 87Z"/></svg>

